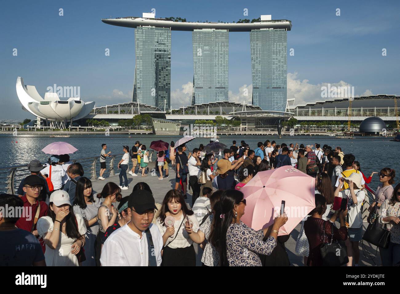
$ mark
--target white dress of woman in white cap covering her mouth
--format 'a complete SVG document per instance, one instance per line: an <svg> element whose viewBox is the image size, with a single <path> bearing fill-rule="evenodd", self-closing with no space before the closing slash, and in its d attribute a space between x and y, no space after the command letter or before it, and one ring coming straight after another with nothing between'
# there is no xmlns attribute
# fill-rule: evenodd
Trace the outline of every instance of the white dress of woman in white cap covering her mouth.
<svg viewBox="0 0 400 294"><path fill-rule="evenodd" d="M86 226L84 219L79 214L75 214L76 221L78 222L79 234L86 233ZM40 240L44 241L44 236L48 232L53 232L54 223L50 216L43 216L39 218L36 228L38 230ZM60 230L60 240L56 249L51 249L46 244L46 252L44 257L46 259L46 266L79 266L78 258L75 254L71 253L71 246L76 241L76 238L68 238Z"/></svg>

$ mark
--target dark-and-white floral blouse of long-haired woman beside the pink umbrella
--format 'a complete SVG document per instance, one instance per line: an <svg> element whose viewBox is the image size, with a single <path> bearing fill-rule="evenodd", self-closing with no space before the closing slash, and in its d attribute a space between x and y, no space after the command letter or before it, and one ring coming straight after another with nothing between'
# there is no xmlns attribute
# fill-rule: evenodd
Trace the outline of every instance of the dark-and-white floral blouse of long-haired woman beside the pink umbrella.
<svg viewBox="0 0 400 294"><path fill-rule="evenodd" d="M264 242L263 230L254 230L240 224L231 224L226 232L226 255L229 266L262 266L258 254L270 255L276 246L274 237Z"/></svg>

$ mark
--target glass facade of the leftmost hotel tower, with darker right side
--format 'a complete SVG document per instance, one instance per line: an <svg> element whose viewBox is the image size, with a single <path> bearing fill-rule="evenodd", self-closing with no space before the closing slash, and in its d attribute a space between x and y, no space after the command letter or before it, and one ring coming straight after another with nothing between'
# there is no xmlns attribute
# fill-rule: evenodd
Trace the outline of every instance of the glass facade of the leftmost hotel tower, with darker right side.
<svg viewBox="0 0 400 294"><path fill-rule="evenodd" d="M164 110L166 101L166 106L170 108L170 29L137 27L135 30L135 55L136 65L132 102L140 102Z"/></svg>

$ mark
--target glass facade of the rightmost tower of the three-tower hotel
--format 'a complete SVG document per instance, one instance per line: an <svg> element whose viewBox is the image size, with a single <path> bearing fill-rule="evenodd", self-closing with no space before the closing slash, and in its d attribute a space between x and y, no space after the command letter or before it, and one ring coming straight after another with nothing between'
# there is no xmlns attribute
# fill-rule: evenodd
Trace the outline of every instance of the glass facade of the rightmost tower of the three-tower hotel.
<svg viewBox="0 0 400 294"><path fill-rule="evenodd" d="M252 104L262 110L285 111L287 100L287 31L250 32Z"/></svg>

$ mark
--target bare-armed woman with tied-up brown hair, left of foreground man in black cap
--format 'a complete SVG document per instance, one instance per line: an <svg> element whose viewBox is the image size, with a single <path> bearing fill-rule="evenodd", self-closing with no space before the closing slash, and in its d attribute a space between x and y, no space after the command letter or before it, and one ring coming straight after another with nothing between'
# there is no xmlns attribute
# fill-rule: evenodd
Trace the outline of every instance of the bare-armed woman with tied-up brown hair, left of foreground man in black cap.
<svg viewBox="0 0 400 294"><path fill-rule="evenodd" d="M121 198L121 189L117 184L108 182L104 185L101 193L97 194L97 198L104 198L103 204L100 206L97 213L100 232L97 235L97 242L101 243L101 234L105 234L108 227L118 222L118 211L112 205Z"/></svg>

